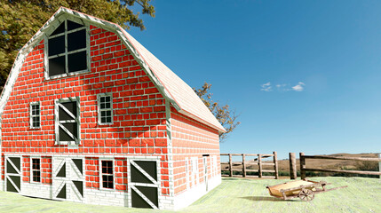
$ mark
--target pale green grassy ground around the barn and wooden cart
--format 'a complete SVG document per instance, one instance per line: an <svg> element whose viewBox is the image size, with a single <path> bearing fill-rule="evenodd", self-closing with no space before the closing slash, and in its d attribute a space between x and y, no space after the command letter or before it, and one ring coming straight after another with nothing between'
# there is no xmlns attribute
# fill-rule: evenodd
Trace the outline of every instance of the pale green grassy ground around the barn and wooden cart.
<svg viewBox="0 0 381 213"><path fill-rule="evenodd" d="M347 188L315 195L314 201L282 201L271 197L266 185L288 180L223 178L222 184L178 212L381 212L381 179L364 177L316 177L336 187ZM127 209L50 201L0 192L0 212L172 212L152 209Z"/></svg>

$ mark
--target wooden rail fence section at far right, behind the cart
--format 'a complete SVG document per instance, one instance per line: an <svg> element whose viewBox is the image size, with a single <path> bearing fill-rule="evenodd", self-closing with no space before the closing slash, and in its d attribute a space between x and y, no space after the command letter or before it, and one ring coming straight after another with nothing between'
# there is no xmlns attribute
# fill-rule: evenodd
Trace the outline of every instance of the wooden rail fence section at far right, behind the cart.
<svg viewBox="0 0 381 213"><path fill-rule="evenodd" d="M326 156L326 155L305 155L304 153L299 154L300 159L300 177L302 179L306 178L306 171L322 171L322 172L340 172L340 173L351 173L351 174L362 174L362 175L379 175L381 177L381 163L380 171L363 171L363 170L326 170L326 169L312 169L306 168L306 159L329 159L329 160L353 160L362 162L381 162L381 156L378 158L361 158L361 157L336 157L336 156Z"/></svg>

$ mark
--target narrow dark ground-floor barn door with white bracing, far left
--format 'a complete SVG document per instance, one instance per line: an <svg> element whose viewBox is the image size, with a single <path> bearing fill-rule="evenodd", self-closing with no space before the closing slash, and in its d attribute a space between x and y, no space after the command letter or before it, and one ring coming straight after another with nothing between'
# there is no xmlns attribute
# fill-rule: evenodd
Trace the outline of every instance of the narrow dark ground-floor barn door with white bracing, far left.
<svg viewBox="0 0 381 213"><path fill-rule="evenodd" d="M21 189L20 157L5 158L5 187L7 192L20 193Z"/></svg>

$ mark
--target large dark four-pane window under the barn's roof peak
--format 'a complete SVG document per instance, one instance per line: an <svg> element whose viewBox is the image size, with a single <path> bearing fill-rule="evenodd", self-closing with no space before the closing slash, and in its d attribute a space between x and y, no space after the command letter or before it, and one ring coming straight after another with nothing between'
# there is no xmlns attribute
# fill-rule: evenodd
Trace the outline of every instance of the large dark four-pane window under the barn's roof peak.
<svg viewBox="0 0 381 213"><path fill-rule="evenodd" d="M45 43L47 78L56 78L88 70L88 29L71 20L63 21Z"/></svg>

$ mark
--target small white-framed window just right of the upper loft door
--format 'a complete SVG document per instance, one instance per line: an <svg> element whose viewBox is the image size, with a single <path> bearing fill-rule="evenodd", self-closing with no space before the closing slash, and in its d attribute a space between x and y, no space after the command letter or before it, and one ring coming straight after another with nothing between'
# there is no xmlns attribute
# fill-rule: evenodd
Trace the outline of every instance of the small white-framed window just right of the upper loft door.
<svg viewBox="0 0 381 213"><path fill-rule="evenodd" d="M111 94L98 95L98 123L113 123L113 96Z"/></svg>

